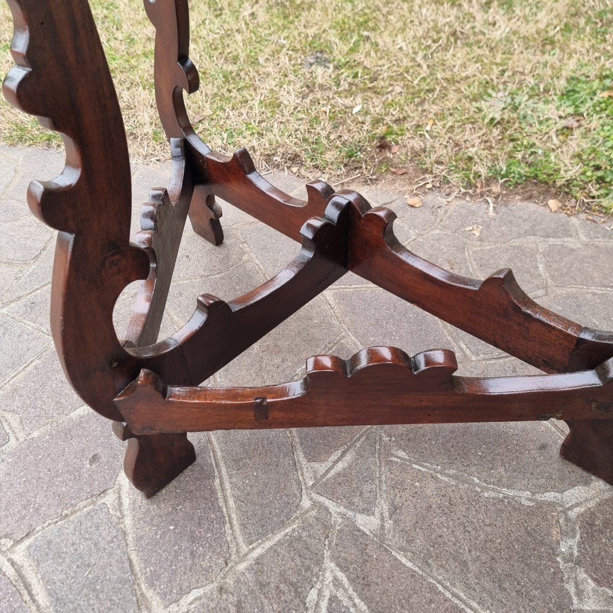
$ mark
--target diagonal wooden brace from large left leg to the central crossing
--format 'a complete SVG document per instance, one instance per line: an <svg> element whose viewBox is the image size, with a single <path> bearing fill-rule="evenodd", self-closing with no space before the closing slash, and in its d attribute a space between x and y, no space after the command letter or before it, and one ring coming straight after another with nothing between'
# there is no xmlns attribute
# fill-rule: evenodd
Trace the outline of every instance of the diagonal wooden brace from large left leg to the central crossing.
<svg viewBox="0 0 613 613"><path fill-rule="evenodd" d="M127 350L167 383L197 385L207 379L345 274L349 210L344 199L330 199L324 216L308 219L300 232L302 249L272 279L229 302L203 294L172 337Z"/></svg>

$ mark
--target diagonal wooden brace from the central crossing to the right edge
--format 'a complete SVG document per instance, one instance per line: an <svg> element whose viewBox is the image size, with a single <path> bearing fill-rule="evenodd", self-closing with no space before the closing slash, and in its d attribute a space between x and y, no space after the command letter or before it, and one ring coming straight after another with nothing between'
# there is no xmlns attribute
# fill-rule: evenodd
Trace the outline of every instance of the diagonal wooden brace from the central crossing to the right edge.
<svg viewBox="0 0 613 613"><path fill-rule="evenodd" d="M395 237L396 215L351 200L349 268L392 294L546 372L595 368L613 357L613 333L579 326L538 305L509 268L484 281L456 275L406 249Z"/></svg>

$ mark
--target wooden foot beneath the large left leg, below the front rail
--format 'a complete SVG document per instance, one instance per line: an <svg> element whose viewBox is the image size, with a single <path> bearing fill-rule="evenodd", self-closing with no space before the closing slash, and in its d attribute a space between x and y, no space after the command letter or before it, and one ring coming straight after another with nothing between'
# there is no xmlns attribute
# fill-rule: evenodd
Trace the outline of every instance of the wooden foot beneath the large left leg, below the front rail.
<svg viewBox="0 0 613 613"><path fill-rule="evenodd" d="M158 493L196 462L196 450L185 432L135 435L121 422L113 422L113 432L120 440L128 441L123 470L146 498Z"/></svg>

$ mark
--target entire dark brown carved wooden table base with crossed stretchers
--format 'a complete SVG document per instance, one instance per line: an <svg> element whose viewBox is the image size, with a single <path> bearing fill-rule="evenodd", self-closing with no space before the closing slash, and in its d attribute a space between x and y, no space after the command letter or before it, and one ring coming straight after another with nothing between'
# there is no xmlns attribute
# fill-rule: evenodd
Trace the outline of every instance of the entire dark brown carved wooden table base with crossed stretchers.
<svg viewBox="0 0 613 613"><path fill-rule="evenodd" d="M142 231L129 242L131 175L123 120L87 0L7 0L17 64L7 99L61 132L66 167L33 181L29 206L59 230L51 331L67 378L128 441L124 468L147 496L194 462L186 432L358 424L565 420L561 454L613 484L613 333L588 329L533 302L508 269L484 281L447 272L405 249L394 213L322 181L302 202L229 159L192 129L183 91L199 86L188 57L187 0L145 0L156 28L155 91L172 149L167 189L151 191ZM156 342L187 216L223 240L227 200L302 243L284 270L230 302L198 298L192 318ZM348 270L546 375L455 376L455 356L434 349L364 349L349 360L315 356L299 381L268 387L197 387ZM142 280L123 340L115 301ZM398 322L402 326L402 321Z"/></svg>

